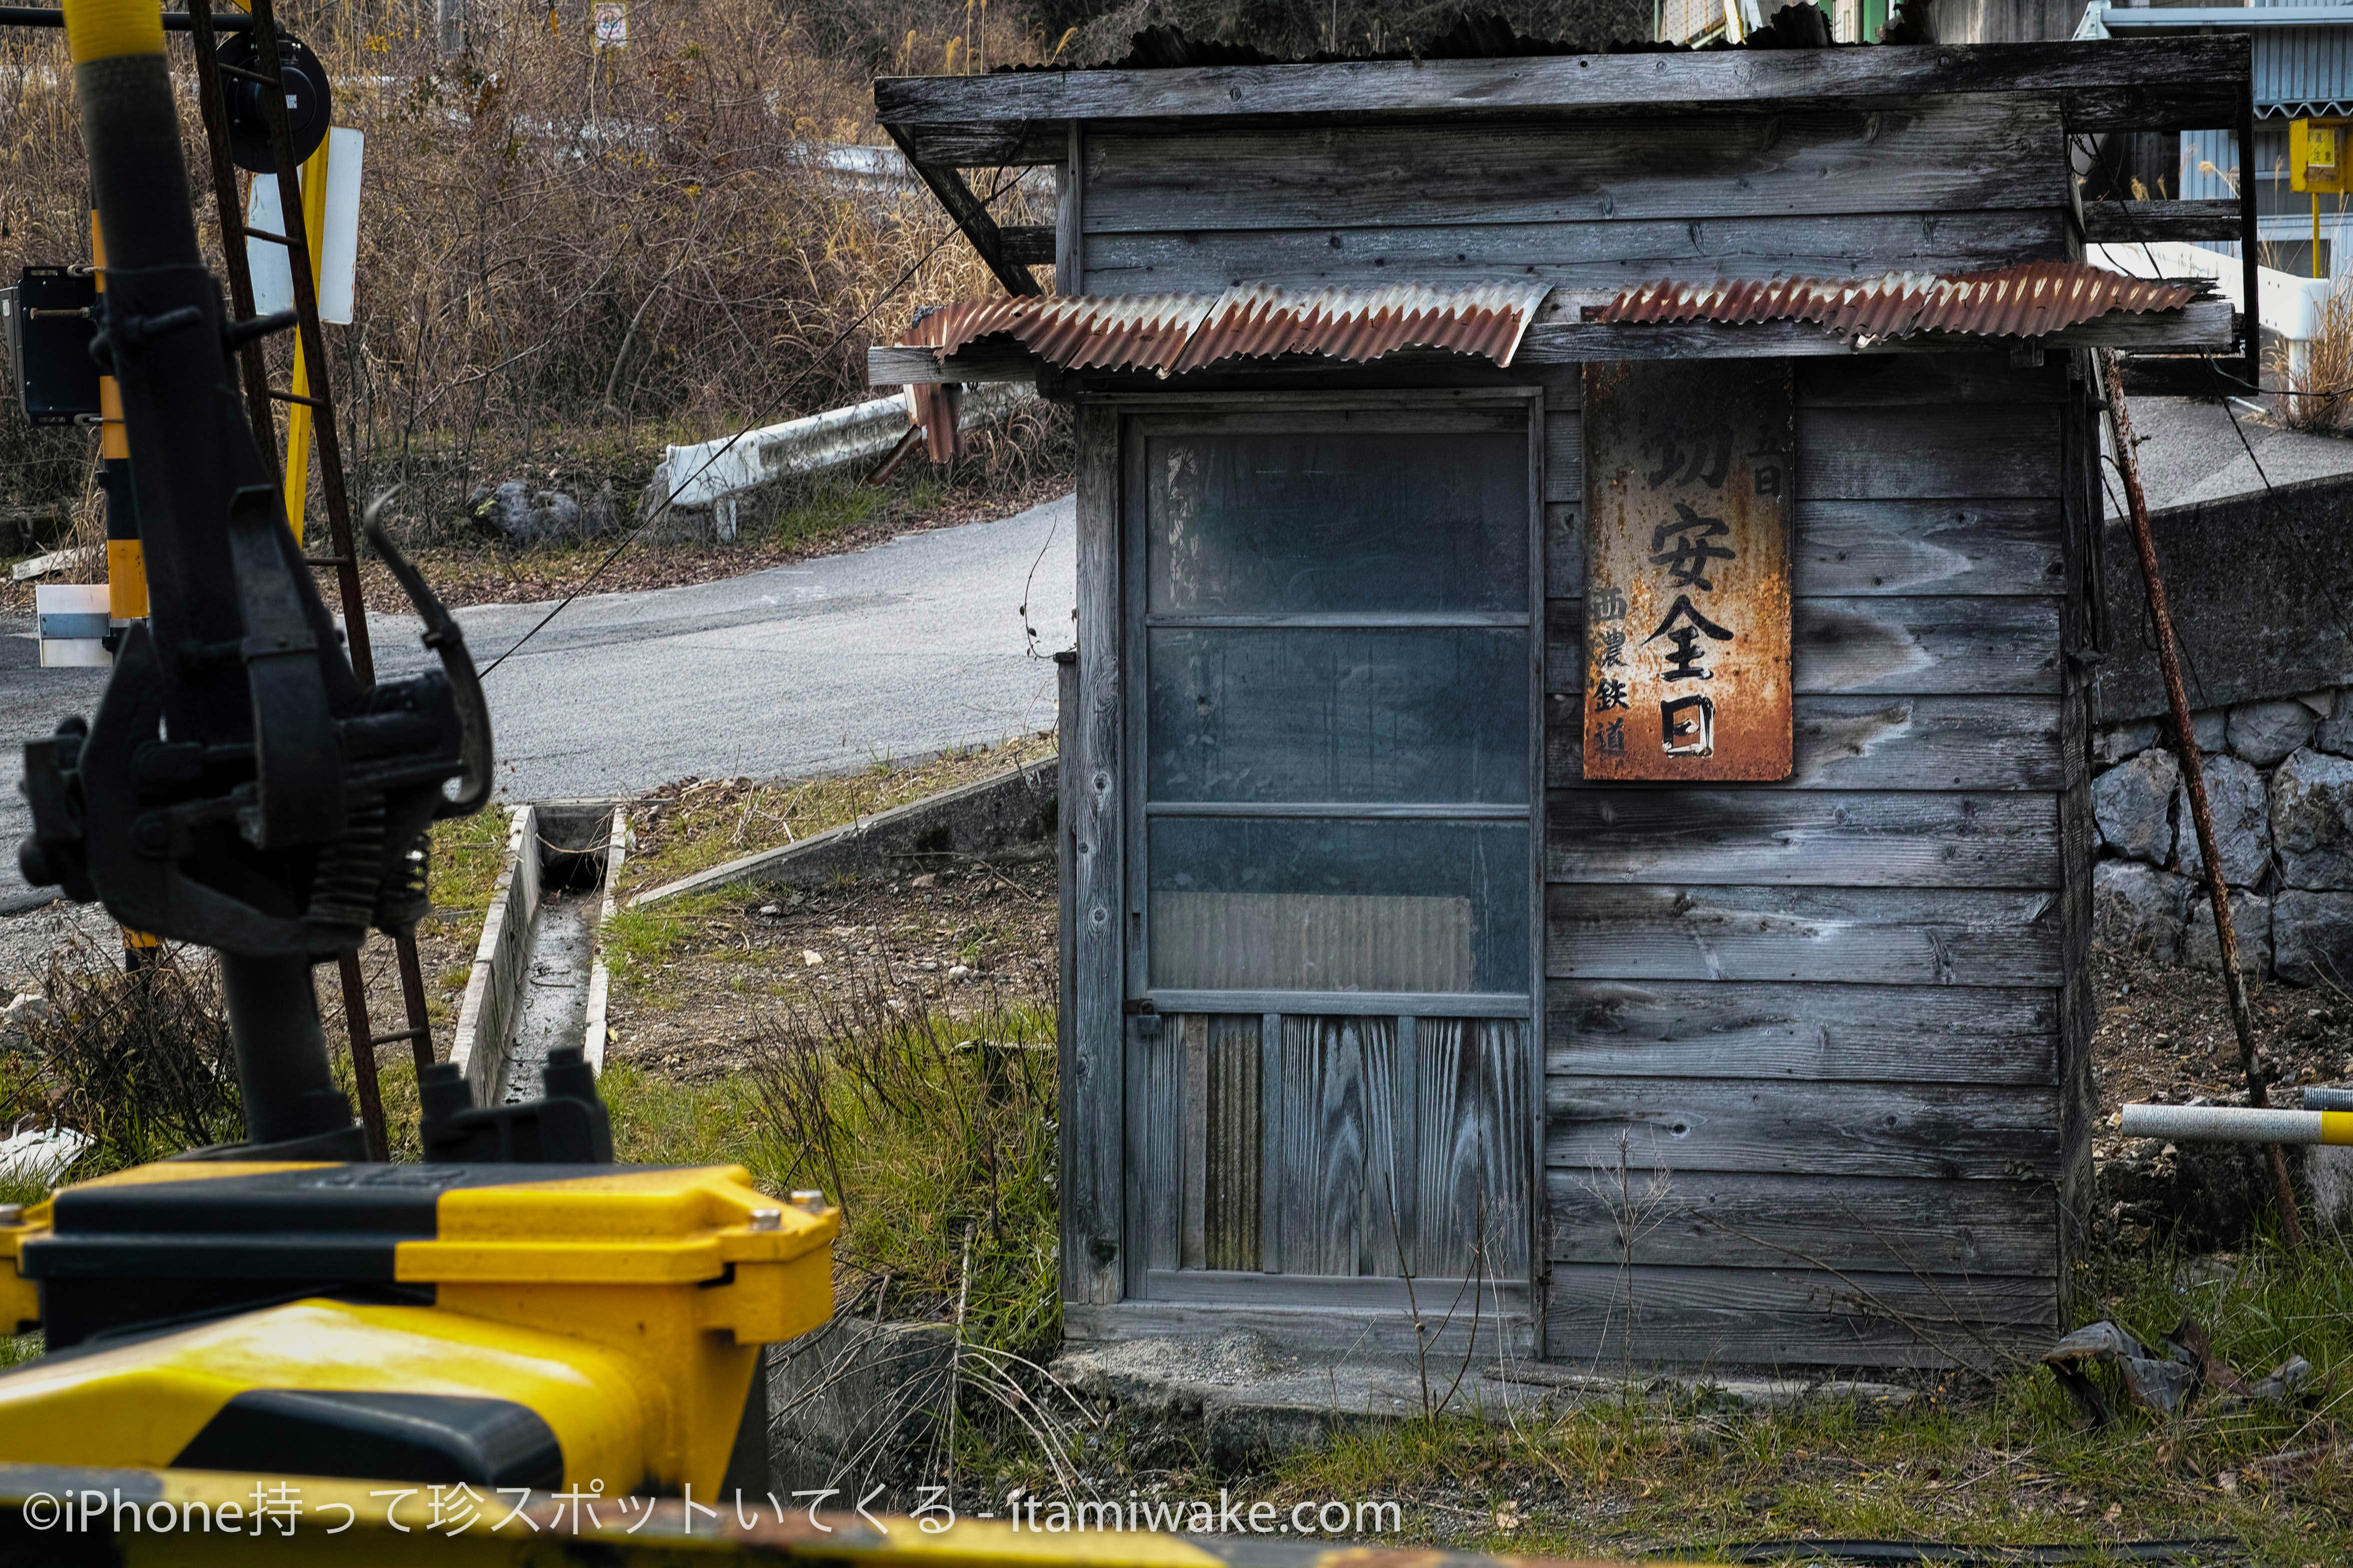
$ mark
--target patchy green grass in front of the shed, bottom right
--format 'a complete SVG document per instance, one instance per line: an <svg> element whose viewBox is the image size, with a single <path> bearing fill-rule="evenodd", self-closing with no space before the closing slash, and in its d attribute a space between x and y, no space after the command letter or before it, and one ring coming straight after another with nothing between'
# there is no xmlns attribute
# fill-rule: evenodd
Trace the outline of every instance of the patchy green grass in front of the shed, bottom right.
<svg viewBox="0 0 2353 1568"><path fill-rule="evenodd" d="M2348 1248L2313 1246L2297 1260L2259 1246L2221 1272L2172 1255L2113 1258L2092 1284L2099 1305L2087 1316L2118 1316L2153 1340L2191 1314L2249 1378L2306 1356L2306 1399L2240 1410L2207 1401L2174 1420L2127 1413L2087 1429L2047 1371L2019 1363L1901 1408L1737 1413L1706 1399L1626 1399L1518 1432L1402 1422L1299 1455L1252 1490L1402 1497L1409 1535L1442 1530L1452 1544L1515 1554L1704 1552L1800 1535L2080 1547L2228 1535L2261 1563L2353 1559ZM1452 1514L1417 1507L1433 1490ZM1501 1528L1499 1514L1518 1523Z"/></svg>

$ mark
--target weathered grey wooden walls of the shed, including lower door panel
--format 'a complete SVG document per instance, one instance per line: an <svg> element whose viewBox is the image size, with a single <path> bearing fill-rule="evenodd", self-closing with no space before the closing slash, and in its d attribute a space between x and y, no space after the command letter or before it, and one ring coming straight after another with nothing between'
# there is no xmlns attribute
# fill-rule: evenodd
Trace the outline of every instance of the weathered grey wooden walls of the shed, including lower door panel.
<svg viewBox="0 0 2353 1568"><path fill-rule="evenodd" d="M1085 75L939 92L1104 87ZM972 146L1052 132L1066 292L1555 294L1511 367L1407 348L1176 386L1045 378L1082 407L1068 1331L1409 1342L1412 1288L1482 1279L1499 1342L1567 1361L1984 1363L2049 1333L2089 1147L2087 712L2068 661L2089 646L2082 355L2026 367L1946 339L1861 357L1805 322L1600 324L1581 306L1659 277L2066 259L2059 99L1894 87L1572 113L1513 103L1506 73L1504 96L1447 118L1226 115L1228 82L1240 101L1268 80L1217 75L1219 101L1181 120L1061 113L1035 134L976 125ZM941 148L960 134L913 118ZM1584 780L1569 362L1602 350L1793 357L1788 780ZM1294 388L1374 407L1374 388L1506 381L1544 395L1541 1041L1527 1011L1419 1016L1428 997L1381 1016L1172 987L1169 1016L1122 1018L1144 994L1146 799L1141 719L1120 710L1120 661L1144 654L1120 421L1172 393L1245 418Z"/></svg>

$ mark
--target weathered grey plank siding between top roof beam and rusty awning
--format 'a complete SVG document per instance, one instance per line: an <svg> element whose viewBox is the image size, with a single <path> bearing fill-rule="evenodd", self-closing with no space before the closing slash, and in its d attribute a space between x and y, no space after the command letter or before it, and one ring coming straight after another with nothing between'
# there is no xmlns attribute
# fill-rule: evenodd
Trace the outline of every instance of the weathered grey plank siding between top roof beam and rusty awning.
<svg viewBox="0 0 2353 1568"><path fill-rule="evenodd" d="M1087 127L1087 294L1967 273L2068 254L2057 101L1675 120ZM2002 494L2002 491L1986 491Z"/></svg>

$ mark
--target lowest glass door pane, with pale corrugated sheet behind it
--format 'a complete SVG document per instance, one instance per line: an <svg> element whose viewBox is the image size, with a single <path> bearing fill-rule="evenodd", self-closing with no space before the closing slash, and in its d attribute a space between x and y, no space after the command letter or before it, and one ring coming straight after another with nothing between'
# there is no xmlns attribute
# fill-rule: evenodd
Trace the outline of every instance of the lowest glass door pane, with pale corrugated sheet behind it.
<svg viewBox="0 0 2353 1568"><path fill-rule="evenodd" d="M1151 983L1525 992L1520 823L1160 818Z"/></svg>

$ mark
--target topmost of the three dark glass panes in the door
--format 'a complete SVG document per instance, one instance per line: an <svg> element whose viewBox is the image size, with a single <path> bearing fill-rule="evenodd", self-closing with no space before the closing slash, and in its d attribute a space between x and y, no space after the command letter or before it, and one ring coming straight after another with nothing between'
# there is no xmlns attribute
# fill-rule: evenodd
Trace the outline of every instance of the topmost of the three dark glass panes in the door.
<svg viewBox="0 0 2353 1568"><path fill-rule="evenodd" d="M1155 435L1151 609L1525 611L1527 437Z"/></svg>

